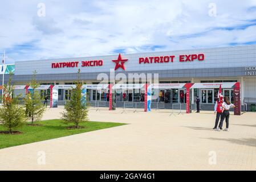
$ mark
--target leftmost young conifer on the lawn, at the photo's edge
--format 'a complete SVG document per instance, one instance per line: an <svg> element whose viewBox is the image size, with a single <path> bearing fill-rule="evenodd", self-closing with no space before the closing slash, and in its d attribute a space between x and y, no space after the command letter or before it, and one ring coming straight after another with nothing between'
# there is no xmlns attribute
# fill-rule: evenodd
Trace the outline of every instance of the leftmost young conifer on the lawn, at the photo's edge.
<svg viewBox="0 0 256 182"><path fill-rule="evenodd" d="M13 133L13 129L26 122L25 109L19 105L18 96L13 96L14 86L11 84L13 73L10 73L9 82L3 85L3 102L0 107L0 124Z"/></svg>

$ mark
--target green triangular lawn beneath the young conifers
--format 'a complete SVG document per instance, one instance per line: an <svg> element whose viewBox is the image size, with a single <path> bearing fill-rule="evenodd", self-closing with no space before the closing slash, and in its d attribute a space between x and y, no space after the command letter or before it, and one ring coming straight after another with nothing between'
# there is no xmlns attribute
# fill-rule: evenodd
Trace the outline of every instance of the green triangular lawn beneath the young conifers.
<svg viewBox="0 0 256 182"><path fill-rule="evenodd" d="M11 146L18 146L21 144L39 142L42 140L59 138L68 135L74 135L79 133L85 133L88 131L106 129L109 127L126 125L125 123L111 123L111 122L86 122L81 123L79 126L84 126L83 129L66 129L67 126L61 119L52 119L47 121L36 122L42 124L42 126L27 126L15 129L21 131L22 134L0 134L0 148L6 148ZM0 131L5 129L0 125Z"/></svg>

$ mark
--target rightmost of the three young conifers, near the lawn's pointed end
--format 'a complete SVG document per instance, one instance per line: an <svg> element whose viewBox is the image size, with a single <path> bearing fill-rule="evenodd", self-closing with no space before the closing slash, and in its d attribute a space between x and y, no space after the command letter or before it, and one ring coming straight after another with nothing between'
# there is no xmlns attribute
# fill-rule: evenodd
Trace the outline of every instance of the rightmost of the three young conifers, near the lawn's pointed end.
<svg viewBox="0 0 256 182"><path fill-rule="evenodd" d="M65 111L62 113L62 119L66 123L74 123L75 128L79 129L79 123L88 121L88 111L86 101L82 97L83 83L80 81L80 69L78 70L78 82L76 87L72 88L71 99L64 106Z"/></svg>

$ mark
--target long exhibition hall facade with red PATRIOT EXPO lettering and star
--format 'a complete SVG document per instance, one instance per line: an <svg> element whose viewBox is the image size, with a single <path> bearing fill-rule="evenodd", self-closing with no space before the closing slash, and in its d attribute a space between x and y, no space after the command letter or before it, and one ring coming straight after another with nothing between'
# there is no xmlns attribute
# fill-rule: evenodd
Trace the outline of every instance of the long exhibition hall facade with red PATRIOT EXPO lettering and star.
<svg viewBox="0 0 256 182"><path fill-rule="evenodd" d="M144 75L147 77L148 74L152 77L157 74L160 83L240 82L242 105L256 102L256 46L17 61L13 80L15 85L29 84L32 72L36 71L36 79L41 84L73 84L78 78L78 69L81 71L80 79L86 84L97 84L104 76L111 78L111 74L116 82L120 78L130 78L131 75L139 78L123 80L129 83L141 82L143 79L140 78ZM6 72L5 82L8 77ZM50 94L49 92L42 90L42 97ZM105 93L108 91L88 92L90 101L105 101ZM116 102L140 102L143 93L141 89L116 90ZM159 89L152 93L155 98L161 94L168 96L162 100L166 103L186 102L182 98L184 89ZM233 100L232 89L223 88L222 93ZM217 94L218 89L193 89L192 103L199 96L202 104L212 107L217 100ZM70 96L70 90L59 90L59 101L68 100Z"/></svg>

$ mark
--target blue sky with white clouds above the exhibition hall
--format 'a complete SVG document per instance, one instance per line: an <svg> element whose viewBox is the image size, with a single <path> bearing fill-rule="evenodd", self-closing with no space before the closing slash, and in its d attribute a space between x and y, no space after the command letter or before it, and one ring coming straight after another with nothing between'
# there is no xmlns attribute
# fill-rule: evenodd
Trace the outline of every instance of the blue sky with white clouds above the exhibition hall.
<svg viewBox="0 0 256 182"><path fill-rule="evenodd" d="M256 44L256 0L0 1L6 63Z"/></svg>

